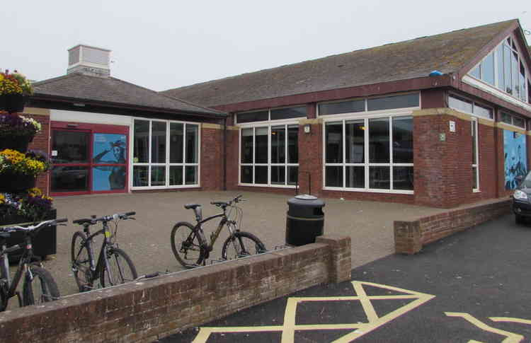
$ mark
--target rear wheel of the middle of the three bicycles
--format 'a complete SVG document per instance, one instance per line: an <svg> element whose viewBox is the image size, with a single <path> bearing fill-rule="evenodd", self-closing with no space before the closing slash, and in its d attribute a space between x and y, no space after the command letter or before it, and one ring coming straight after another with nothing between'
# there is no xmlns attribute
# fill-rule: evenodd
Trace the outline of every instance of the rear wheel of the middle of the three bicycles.
<svg viewBox="0 0 531 343"><path fill-rule="evenodd" d="M86 236L81 231L72 236L72 272L80 292L92 289L91 259L86 248Z"/></svg>

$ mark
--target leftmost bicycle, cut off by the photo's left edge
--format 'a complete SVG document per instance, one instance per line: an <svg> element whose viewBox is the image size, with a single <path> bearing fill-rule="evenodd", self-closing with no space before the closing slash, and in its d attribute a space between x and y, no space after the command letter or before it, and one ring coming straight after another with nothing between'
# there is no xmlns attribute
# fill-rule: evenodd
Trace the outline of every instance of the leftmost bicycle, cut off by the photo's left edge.
<svg viewBox="0 0 531 343"><path fill-rule="evenodd" d="M64 223L68 219L52 219L42 221L32 226L4 226L0 228L0 312L6 310L10 298L18 297L19 306L29 306L47 301L54 301L59 298L59 289L52 277L42 266L40 257L33 255L32 237L35 236L41 228ZM59 224L64 225L64 224ZM12 245L6 247L6 240L15 231L23 232L24 246ZM24 249L21 259L18 261L13 280L9 274L9 257L11 252ZM18 283L21 281L24 273L23 296L16 291Z"/></svg>

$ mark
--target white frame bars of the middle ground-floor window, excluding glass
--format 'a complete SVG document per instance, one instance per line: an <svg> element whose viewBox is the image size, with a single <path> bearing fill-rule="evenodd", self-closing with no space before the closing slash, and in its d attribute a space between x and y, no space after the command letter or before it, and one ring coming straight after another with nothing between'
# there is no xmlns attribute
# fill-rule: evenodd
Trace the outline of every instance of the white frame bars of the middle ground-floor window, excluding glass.
<svg viewBox="0 0 531 343"><path fill-rule="evenodd" d="M293 120L286 119L286 120L273 120L268 122L249 122L244 124L238 124L239 127L239 152L238 152L238 185L239 186L246 186L246 187L277 187L277 188L293 188L297 187L297 185L287 185L287 167L299 167L299 163L288 163L287 162L287 149L288 149L288 134L287 134L287 127L290 125L297 125L299 126L299 120ZM304 119L304 117L301 117L301 119ZM277 127L277 126L284 126L286 129L286 140L285 140L285 163L271 163L271 127ZM253 162L252 163L241 163L241 131L243 129L253 129L253 149L256 149L256 129L261 127L267 127L268 128L268 163L256 163L256 151L253 151ZM297 136L297 144L299 141L299 136ZM298 148L297 148L298 149ZM299 151L300 156L300 151ZM275 183L271 183L271 166L283 166L285 165L285 185L278 185ZM241 167L249 166L253 168L253 183L243 183L241 182ZM254 173L254 167L256 166L267 166L268 167L268 183L255 183L255 173Z"/></svg>

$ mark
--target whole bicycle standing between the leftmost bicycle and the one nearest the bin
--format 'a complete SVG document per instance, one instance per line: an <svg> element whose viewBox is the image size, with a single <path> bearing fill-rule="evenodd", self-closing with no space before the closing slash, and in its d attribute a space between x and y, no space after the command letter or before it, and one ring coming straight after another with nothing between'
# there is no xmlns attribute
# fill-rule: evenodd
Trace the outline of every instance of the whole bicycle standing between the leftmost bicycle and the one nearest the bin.
<svg viewBox="0 0 531 343"><path fill-rule="evenodd" d="M98 279L102 288L106 285L114 286L137 279L135 264L132 263L125 251L118 248L118 243L116 243L118 221L134 219L130 216L135 214L136 212L127 212L101 218L91 216L90 219L72 221L72 223L83 226L83 232L76 231L72 236L72 272L80 292L97 288L93 285L94 281ZM115 224L114 233L111 233L109 229L109 221L113 221ZM90 227L98 222L102 223L103 228L91 234ZM98 262L95 264L92 243L98 235L103 235L103 242L101 243Z"/></svg>

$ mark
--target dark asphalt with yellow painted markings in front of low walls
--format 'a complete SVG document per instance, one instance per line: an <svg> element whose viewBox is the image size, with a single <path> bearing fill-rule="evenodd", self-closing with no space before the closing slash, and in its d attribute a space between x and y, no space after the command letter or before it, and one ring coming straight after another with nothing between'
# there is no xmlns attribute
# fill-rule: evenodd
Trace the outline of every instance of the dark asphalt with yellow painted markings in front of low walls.
<svg viewBox="0 0 531 343"><path fill-rule="evenodd" d="M531 342L530 282L531 224L504 216L160 342Z"/></svg>

